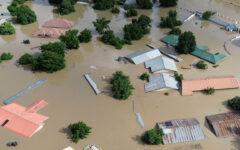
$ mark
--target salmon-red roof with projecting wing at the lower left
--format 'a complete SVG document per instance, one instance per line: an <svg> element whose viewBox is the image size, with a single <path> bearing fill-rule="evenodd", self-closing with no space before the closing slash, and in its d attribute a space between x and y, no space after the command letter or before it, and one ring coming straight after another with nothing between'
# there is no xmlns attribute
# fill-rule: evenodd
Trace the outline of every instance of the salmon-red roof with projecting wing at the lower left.
<svg viewBox="0 0 240 150"><path fill-rule="evenodd" d="M43 127L43 121L48 119L47 116L37 113L47 104L44 100L38 100L28 107L16 103L2 106L0 108L0 124L4 128L30 138Z"/></svg>

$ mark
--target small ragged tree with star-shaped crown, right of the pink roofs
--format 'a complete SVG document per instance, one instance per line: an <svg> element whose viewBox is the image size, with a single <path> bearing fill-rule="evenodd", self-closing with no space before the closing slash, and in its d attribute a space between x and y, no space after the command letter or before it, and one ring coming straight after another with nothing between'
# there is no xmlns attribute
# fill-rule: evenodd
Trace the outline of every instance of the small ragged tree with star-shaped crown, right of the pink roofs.
<svg viewBox="0 0 240 150"><path fill-rule="evenodd" d="M111 21L107 20L106 18L97 19L93 22L93 25L95 26L96 30L99 34L103 34L105 30L109 30L109 23Z"/></svg>

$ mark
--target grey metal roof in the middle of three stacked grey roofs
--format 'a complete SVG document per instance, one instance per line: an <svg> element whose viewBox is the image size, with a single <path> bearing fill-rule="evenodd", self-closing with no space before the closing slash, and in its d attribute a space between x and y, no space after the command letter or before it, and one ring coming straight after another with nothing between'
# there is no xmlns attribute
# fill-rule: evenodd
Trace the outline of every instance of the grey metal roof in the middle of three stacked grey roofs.
<svg viewBox="0 0 240 150"><path fill-rule="evenodd" d="M177 71L177 67L174 60L162 56L146 61L145 68L150 68L151 72L154 73Z"/></svg>

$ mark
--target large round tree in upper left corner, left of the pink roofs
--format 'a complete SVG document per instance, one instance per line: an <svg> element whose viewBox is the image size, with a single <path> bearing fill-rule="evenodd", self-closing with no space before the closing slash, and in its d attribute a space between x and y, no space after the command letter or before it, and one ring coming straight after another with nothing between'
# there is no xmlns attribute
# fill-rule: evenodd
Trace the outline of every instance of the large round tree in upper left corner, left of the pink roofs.
<svg viewBox="0 0 240 150"><path fill-rule="evenodd" d="M17 8L17 22L26 25L36 22L37 17L34 11L32 11L28 6L21 5Z"/></svg>

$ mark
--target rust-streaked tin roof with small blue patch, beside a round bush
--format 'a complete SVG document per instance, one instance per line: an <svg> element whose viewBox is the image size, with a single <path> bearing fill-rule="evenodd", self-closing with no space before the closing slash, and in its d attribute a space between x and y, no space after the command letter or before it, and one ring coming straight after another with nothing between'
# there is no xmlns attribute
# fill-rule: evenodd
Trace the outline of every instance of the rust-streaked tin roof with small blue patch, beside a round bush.
<svg viewBox="0 0 240 150"><path fill-rule="evenodd" d="M163 144L203 140L202 127L197 119L178 119L157 123L164 132Z"/></svg>

